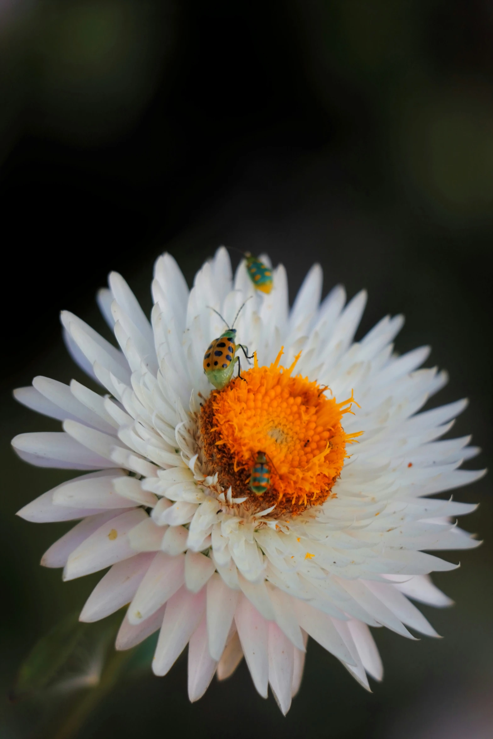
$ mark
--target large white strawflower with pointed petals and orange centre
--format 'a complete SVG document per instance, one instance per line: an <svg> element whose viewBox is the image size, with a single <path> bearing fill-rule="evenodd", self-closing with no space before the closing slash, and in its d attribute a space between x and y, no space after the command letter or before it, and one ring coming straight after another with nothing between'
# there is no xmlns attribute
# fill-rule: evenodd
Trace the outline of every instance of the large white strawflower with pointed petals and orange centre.
<svg viewBox="0 0 493 739"><path fill-rule="evenodd" d="M289 310L282 266L260 293L245 262L232 282L224 248L189 291L165 254L151 323L120 275L99 293L120 349L61 314L69 352L106 395L44 377L15 392L64 429L17 436L18 455L84 471L19 511L35 522L82 519L42 564L63 567L64 579L110 567L81 620L130 604L116 647L160 629L157 675L188 644L191 701L245 655L260 695L271 684L286 713L307 635L368 688L367 673L382 677L369 626L437 636L408 598L448 605L429 573L456 565L422 550L478 543L453 522L475 506L429 498L483 474L458 469L477 452L469 437L438 440L466 402L420 413L446 383L444 372L418 369L428 348L392 353L401 316L353 343L366 293L345 307L342 287L322 303L321 293L316 265ZM203 355L225 328L211 308L231 322L245 300L237 343L256 365L244 359L247 381L211 394ZM259 449L272 463L257 496L249 480Z"/></svg>

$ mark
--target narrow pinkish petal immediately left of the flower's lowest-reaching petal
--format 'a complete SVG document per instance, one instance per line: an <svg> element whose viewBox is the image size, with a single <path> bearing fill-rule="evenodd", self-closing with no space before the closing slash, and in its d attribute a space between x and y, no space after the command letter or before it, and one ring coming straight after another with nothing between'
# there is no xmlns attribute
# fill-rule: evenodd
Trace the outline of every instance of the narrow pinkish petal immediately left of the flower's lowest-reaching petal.
<svg viewBox="0 0 493 739"><path fill-rule="evenodd" d="M257 692L267 698L269 661L268 661L268 621L244 595L239 597L237 610L234 613L239 641L242 645L248 670Z"/></svg>

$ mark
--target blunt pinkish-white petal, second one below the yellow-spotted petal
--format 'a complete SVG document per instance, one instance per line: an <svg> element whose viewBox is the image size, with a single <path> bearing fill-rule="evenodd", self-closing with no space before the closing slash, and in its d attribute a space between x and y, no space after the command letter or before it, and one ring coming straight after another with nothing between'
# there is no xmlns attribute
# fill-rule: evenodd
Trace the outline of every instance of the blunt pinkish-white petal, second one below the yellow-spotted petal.
<svg viewBox="0 0 493 739"><path fill-rule="evenodd" d="M183 554L169 556L158 552L140 583L128 617L131 624L138 624L152 616L154 611L166 603L183 585L185 579L185 557Z"/></svg>

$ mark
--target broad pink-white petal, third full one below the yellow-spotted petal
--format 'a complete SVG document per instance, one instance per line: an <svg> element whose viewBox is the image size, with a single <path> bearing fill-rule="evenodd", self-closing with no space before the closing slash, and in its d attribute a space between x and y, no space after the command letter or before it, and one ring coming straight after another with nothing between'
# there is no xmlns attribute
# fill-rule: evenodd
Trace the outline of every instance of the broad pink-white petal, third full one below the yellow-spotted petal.
<svg viewBox="0 0 493 739"><path fill-rule="evenodd" d="M180 588L169 600L152 662L154 675L166 675L188 644L205 609L205 588L191 593Z"/></svg>

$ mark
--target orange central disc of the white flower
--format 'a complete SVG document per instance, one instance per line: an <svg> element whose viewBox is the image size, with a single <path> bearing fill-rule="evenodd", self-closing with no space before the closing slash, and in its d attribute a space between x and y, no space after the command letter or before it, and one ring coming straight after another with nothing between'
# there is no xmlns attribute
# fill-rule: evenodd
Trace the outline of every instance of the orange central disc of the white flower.
<svg viewBox="0 0 493 739"><path fill-rule="evenodd" d="M200 418L201 446L211 473L231 485L234 497L249 498L254 508L276 503L276 511L295 515L327 500L347 457L347 435L341 426L353 397L337 403L324 396L324 386L279 365L282 350L270 367L243 372L246 382L231 381L212 392ZM271 486L262 497L248 488L258 452L271 467ZM245 505L248 506L247 503Z"/></svg>

